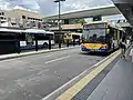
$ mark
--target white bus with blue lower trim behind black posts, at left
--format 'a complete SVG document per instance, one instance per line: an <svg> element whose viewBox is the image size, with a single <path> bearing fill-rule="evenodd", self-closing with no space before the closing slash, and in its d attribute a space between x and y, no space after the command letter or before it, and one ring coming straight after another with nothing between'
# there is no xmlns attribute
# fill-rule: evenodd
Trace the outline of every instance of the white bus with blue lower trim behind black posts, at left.
<svg viewBox="0 0 133 100"><path fill-rule="evenodd" d="M38 39L38 48L48 48L49 38L51 38L51 46L54 46L54 32L44 31L40 29L27 29L22 31L24 39L20 39L21 49L34 49L35 37Z"/></svg>

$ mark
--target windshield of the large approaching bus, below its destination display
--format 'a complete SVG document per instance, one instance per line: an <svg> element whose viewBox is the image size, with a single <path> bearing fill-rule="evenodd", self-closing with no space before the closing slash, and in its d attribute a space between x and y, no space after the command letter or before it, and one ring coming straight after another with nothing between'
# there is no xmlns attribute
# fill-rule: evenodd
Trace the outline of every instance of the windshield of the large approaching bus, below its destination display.
<svg viewBox="0 0 133 100"><path fill-rule="evenodd" d="M83 41L85 42L105 42L105 28L84 29Z"/></svg>

